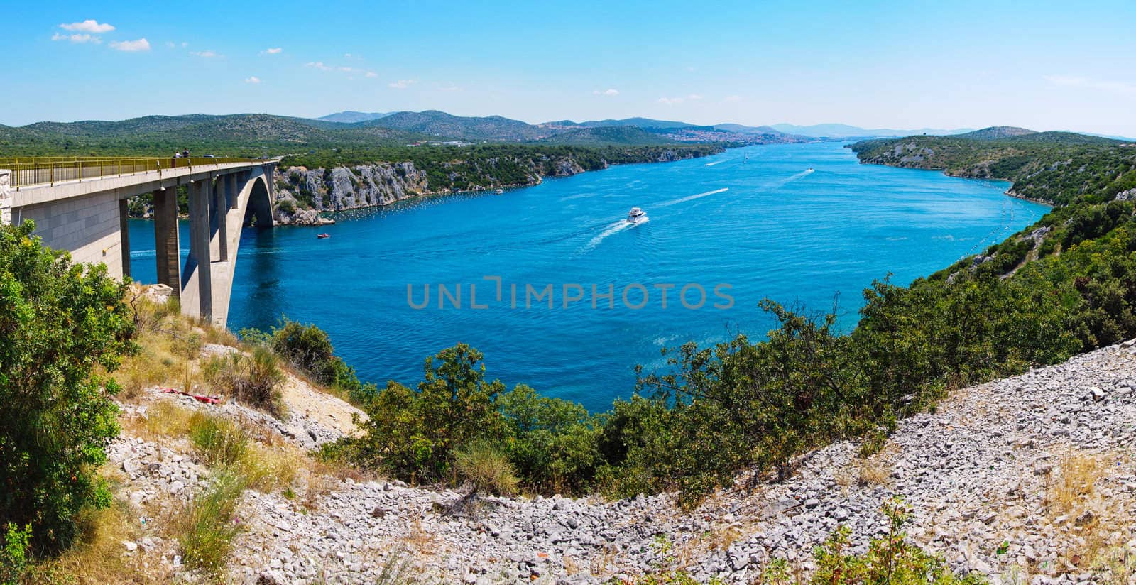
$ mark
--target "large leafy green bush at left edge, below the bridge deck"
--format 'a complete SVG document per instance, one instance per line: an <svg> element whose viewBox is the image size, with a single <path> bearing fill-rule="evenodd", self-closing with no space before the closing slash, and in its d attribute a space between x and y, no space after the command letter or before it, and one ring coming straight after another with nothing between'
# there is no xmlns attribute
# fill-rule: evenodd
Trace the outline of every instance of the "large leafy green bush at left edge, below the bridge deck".
<svg viewBox="0 0 1136 585"><path fill-rule="evenodd" d="M106 373L135 346L127 283L34 229L0 227L0 524L31 525L39 552L66 546L84 507L110 502L94 471L118 436Z"/></svg>

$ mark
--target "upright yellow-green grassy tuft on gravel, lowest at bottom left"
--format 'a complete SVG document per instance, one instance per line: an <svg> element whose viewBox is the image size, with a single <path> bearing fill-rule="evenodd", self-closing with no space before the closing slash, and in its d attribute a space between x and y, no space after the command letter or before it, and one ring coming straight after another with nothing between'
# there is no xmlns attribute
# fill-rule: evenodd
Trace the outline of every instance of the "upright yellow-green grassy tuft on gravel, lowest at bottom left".
<svg viewBox="0 0 1136 585"><path fill-rule="evenodd" d="M212 576L224 573L233 538L242 528L234 513L243 492L241 475L220 468L214 471L209 485L193 498L181 519L177 538L186 567Z"/></svg>

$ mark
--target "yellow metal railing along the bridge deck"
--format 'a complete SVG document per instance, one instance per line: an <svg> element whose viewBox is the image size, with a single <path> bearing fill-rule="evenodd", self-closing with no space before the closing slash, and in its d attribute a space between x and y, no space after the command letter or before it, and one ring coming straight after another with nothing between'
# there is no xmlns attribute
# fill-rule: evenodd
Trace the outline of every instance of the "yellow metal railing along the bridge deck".
<svg viewBox="0 0 1136 585"><path fill-rule="evenodd" d="M267 162L251 158L109 158L109 157L0 157L0 168L11 170L11 189L22 186L55 185L136 173L153 173L176 168L208 168L234 162Z"/></svg>

